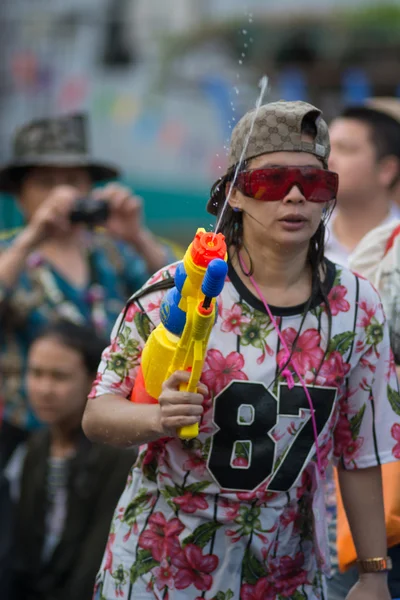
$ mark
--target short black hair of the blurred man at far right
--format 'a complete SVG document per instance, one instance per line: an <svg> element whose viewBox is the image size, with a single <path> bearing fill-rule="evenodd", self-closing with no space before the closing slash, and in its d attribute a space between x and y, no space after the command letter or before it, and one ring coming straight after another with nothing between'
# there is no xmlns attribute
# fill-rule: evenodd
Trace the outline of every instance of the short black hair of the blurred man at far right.
<svg viewBox="0 0 400 600"><path fill-rule="evenodd" d="M389 186L389 189L393 189L400 179L400 123L389 115L366 106L350 106L339 116L355 119L368 127L377 162L387 156L395 156L398 159L398 172Z"/></svg>

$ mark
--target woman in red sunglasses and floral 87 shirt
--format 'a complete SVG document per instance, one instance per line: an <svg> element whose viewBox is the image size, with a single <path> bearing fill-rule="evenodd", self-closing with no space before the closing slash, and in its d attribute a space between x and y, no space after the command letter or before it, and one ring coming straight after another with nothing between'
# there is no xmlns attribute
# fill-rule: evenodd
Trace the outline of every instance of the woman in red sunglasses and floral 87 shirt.
<svg viewBox="0 0 400 600"><path fill-rule="evenodd" d="M267 104L235 127L208 203L229 271L197 394L179 391L188 374L178 372L158 404L127 401L174 265L118 321L83 426L94 440L142 448L98 598L326 599L332 460L359 558L348 598L390 598L378 465L394 460L400 396L379 296L324 258L338 185L329 149L320 111L304 102ZM197 422L195 440L177 437Z"/></svg>

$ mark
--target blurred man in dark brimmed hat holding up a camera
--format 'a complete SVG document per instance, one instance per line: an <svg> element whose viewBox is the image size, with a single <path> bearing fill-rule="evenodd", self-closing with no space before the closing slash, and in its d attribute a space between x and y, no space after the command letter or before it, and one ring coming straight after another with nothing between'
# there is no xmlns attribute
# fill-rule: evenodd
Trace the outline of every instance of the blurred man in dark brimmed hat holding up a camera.
<svg viewBox="0 0 400 600"><path fill-rule="evenodd" d="M0 170L0 191L15 195L26 218L0 242L0 467L38 426L23 383L38 330L67 318L109 335L127 297L180 258L143 226L141 202L128 189L93 189L118 170L90 157L86 128L84 115L31 122Z"/></svg>

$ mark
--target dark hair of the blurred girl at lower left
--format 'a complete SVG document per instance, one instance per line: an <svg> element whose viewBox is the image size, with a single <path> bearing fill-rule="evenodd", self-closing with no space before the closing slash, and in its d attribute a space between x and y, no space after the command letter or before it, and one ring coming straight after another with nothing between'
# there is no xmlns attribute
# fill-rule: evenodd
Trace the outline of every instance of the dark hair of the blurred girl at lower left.
<svg viewBox="0 0 400 600"><path fill-rule="evenodd" d="M82 357L88 375L95 376L104 348L108 345L89 325L77 325L70 321L54 321L44 327L33 343L45 338L54 339Z"/></svg>

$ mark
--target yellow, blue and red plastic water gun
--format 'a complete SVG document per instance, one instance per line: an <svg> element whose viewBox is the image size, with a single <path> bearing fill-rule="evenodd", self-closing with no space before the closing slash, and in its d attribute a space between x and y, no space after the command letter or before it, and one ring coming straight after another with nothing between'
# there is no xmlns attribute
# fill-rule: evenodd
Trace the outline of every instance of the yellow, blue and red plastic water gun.
<svg viewBox="0 0 400 600"><path fill-rule="evenodd" d="M132 402L156 403L162 385L176 371L189 371L180 391L196 392L207 344L218 310L216 298L227 274L227 252L222 233L198 229L175 274L175 287L160 308L161 323L150 334L132 390ZM182 439L199 434L198 423L178 430Z"/></svg>

